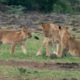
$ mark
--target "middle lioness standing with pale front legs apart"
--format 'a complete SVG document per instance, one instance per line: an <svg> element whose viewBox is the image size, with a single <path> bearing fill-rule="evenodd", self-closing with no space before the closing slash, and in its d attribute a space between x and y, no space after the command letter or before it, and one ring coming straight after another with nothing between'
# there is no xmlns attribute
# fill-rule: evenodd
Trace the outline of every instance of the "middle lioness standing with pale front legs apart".
<svg viewBox="0 0 80 80"><path fill-rule="evenodd" d="M42 43L42 46L39 48L37 55L41 55L42 48L46 48L46 56L50 56L50 51L49 51L49 42L59 42L60 36L59 36L59 28L58 25L53 24L53 23L42 23L42 28L43 28L43 33L44 33L44 40ZM58 53L58 46L57 45L57 52Z"/></svg>

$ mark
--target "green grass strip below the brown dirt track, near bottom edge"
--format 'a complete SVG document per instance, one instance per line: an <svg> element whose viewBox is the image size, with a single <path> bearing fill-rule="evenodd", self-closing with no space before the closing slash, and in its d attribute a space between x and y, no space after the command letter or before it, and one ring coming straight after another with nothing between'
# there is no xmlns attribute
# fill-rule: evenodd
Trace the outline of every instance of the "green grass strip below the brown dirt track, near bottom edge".
<svg viewBox="0 0 80 80"><path fill-rule="evenodd" d="M8 67L8 66L0 66L0 76L7 76L9 78L20 78L19 80L52 80L58 79L62 80L64 78L77 78L80 79L80 71L72 71L72 70L40 70L40 69L31 69L31 68L21 68L25 70L24 72L20 71L20 67ZM17 79L17 80L18 80ZM12 79L13 80L13 79ZM16 80L16 79L14 79ZM73 79L70 79L73 80Z"/></svg>

